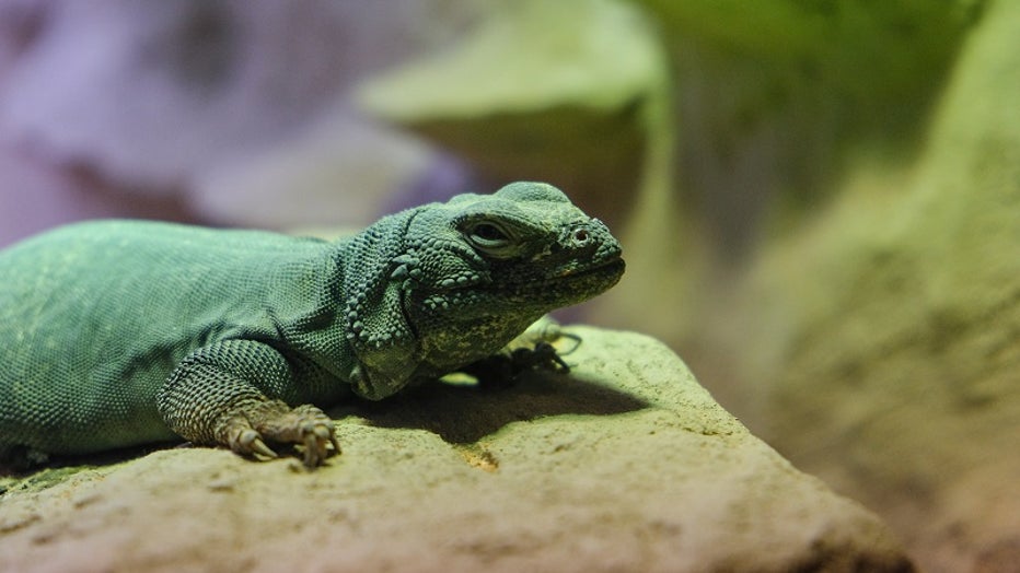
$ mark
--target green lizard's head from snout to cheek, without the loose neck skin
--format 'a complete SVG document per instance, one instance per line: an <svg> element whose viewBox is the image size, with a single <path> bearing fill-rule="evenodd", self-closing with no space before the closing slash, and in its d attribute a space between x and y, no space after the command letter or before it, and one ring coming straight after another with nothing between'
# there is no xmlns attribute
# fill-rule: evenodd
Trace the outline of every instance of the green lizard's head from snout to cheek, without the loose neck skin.
<svg viewBox="0 0 1020 573"><path fill-rule="evenodd" d="M605 224L542 183L460 195L422 210L406 246L418 269L415 302L453 317L537 318L601 294L624 272L619 243Z"/></svg>

